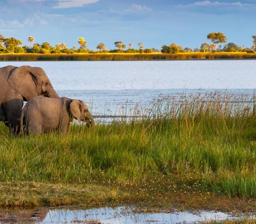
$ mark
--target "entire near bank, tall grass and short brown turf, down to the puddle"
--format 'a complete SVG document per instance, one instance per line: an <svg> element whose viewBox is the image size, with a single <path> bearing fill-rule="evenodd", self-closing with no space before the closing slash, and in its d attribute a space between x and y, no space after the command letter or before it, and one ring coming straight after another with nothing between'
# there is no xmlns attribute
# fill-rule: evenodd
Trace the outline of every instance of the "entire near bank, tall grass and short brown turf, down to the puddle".
<svg viewBox="0 0 256 224"><path fill-rule="evenodd" d="M151 110L135 112L143 120L90 129L73 125L66 137L11 137L1 124L0 204L196 203L234 209L246 199L244 206L253 209L255 106L255 97L217 93L163 97ZM26 189L34 197L22 196Z"/></svg>

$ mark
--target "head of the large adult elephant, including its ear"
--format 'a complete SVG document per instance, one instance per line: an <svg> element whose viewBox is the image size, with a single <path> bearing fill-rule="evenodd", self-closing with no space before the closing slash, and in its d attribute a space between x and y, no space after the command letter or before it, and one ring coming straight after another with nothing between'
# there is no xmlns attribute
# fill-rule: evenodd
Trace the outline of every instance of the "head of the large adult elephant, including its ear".
<svg viewBox="0 0 256 224"><path fill-rule="evenodd" d="M59 97L42 68L18 67L12 70L7 81L12 89L23 96L25 101L35 96Z"/></svg>

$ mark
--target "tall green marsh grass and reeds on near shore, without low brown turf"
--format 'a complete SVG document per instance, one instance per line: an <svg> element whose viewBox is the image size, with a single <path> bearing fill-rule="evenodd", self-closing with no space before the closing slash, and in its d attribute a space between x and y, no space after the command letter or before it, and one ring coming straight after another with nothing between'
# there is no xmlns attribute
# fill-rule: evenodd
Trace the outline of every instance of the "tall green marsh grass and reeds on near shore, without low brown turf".
<svg viewBox="0 0 256 224"><path fill-rule="evenodd" d="M124 109L125 110L125 109ZM159 96L150 108L59 133L12 137L0 125L0 181L125 186L180 175L230 197L256 198L256 97Z"/></svg>

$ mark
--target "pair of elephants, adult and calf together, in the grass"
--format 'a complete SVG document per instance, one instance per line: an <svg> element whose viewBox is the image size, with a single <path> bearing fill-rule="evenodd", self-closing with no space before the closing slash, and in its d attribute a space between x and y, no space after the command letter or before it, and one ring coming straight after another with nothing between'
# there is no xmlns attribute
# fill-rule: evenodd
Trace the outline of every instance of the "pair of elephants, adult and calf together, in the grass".
<svg viewBox="0 0 256 224"><path fill-rule="evenodd" d="M24 107L23 101L27 101ZM0 68L0 121L11 134L56 130L66 134L73 119L85 122L87 127L94 123L83 101L58 96L42 68Z"/></svg>

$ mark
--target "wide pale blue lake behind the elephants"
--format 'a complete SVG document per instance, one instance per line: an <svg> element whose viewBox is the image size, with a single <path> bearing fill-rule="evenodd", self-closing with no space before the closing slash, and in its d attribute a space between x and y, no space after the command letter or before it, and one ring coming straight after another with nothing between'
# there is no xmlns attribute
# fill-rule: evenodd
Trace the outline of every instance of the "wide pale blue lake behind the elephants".
<svg viewBox="0 0 256 224"><path fill-rule="evenodd" d="M159 94L212 91L251 95L256 89L254 60L0 62L42 67L59 96L77 98L94 115L122 114L136 103L149 106Z"/></svg>

